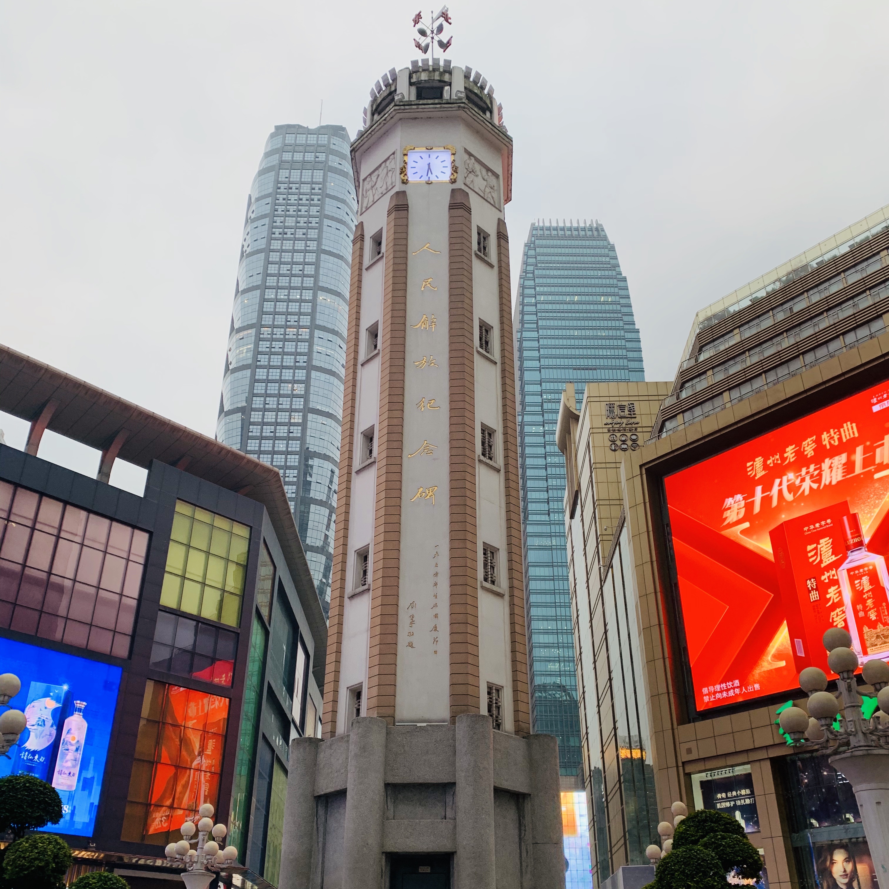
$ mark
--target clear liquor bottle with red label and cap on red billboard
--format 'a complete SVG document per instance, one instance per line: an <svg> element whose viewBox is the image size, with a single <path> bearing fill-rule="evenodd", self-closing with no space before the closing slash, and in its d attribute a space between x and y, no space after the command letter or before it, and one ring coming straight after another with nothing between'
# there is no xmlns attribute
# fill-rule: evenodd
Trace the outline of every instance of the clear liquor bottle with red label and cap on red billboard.
<svg viewBox="0 0 889 889"><path fill-rule="evenodd" d="M886 561L868 552L857 512L843 517L845 562L837 568L852 647L860 661L889 652L889 573Z"/></svg>

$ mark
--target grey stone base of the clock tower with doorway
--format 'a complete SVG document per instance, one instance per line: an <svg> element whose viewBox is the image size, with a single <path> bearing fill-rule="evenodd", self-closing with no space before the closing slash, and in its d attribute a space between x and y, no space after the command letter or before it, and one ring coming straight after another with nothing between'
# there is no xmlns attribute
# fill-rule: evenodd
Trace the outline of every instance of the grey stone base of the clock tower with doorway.
<svg viewBox="0 0 889 889"><path fill-rule="evenodd" d="M408 873L409 885L563 889L556 739L466 714L358 717L330 741L292 741L278 885L389 889Z"/></svg>

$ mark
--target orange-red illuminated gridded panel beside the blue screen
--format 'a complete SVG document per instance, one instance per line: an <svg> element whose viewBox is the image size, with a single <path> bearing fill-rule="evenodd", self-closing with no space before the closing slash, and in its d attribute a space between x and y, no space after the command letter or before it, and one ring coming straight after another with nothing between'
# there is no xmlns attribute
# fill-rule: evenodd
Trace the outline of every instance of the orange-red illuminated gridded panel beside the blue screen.
<svg viewBox="0 0 889 889"><path fill-rule="evenodd" d="M122 839L166 845L217 805L227 725L228 698L148 680Z"/></svg>

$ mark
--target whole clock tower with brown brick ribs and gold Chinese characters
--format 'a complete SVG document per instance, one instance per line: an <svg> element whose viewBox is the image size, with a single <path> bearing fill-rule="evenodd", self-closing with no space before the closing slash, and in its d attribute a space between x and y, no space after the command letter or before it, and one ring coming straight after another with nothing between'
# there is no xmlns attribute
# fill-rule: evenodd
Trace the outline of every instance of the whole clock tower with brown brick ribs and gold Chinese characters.
<svg viewBox="0 0 889 889"><path fill-rule="evenodd" d="M292 741L287 889L565 885L557 743L529 734L493 92L450 60L392 68L352 143L324 740Z"/></svg>

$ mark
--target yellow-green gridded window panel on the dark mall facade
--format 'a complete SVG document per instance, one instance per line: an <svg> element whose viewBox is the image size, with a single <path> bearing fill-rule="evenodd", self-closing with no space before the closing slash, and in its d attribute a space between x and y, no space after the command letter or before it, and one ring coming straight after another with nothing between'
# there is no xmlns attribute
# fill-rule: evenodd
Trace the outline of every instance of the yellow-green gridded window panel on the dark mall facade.
<svg viewBox="0 0 889 889"><path fill-rule="evenodd" d="M236 627L250 549L250 528L176 501L161 605Z"/></svg>

